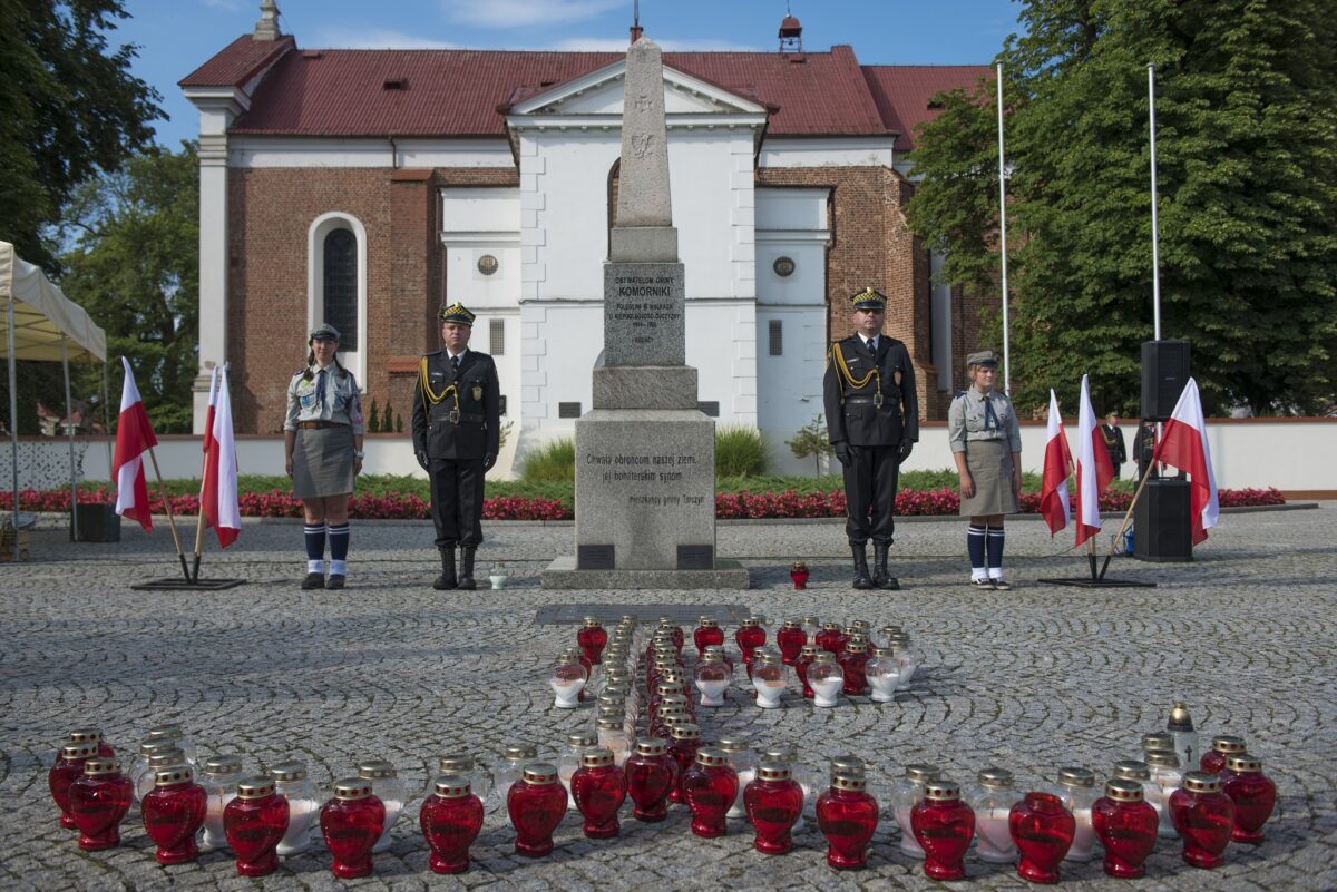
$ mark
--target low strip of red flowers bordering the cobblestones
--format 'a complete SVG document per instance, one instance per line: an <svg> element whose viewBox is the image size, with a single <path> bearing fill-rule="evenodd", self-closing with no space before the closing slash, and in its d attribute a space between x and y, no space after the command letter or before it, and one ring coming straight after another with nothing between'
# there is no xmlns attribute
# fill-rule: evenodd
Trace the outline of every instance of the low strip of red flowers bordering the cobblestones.
<svg viewBox="0 0 1337 892"><path fill-rule="evenodd" d="M1223 489L1219 491L1222 507L1249 505L1285 505L1277 489ZM116 501L116 494L106 487L79 490L82 505L106 505ZM174 514L199 514L199 498L172 495ZM1110 490L1100 497L1102 511L1126 511L1132 501L1130 493ZM162 498L150 499L154 514L163 514ZM28 511L68 511L70 490L21 490L19 503ZM0 493L0 510L12 510L13 494ZM961 497L955 489L902 490L896 495L896 513L901 515L956 514ZM291 494L271 489L266 493L242 493L238 497L242 517L301 517L302 502ZM1021 494L1021 513L1035 514L1040 509L1039 493ZM427 499L414 494L389 493L385 495L354 495L349 499L349 515L360 519L427 519L431 517ZM570 521L571 509L555 498L525 498L503 495L484 499L483 517L489 521ZM721 493L715 497L715 517L789 518L789 517L845 517L845 493L841 490L797 493Z"/></svg>

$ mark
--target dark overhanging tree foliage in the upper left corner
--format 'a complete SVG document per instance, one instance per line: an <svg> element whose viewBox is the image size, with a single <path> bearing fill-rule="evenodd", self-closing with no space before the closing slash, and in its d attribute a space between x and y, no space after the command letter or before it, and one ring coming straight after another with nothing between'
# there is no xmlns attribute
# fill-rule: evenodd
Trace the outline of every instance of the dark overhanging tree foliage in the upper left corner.
<svg viewBox="0 0 1337 892"><path fill-rule="evenodd" d="M158 92L112 51L120 0L0 0L0 239L57 272L43 235L72 192L148 146Z"/></svg>

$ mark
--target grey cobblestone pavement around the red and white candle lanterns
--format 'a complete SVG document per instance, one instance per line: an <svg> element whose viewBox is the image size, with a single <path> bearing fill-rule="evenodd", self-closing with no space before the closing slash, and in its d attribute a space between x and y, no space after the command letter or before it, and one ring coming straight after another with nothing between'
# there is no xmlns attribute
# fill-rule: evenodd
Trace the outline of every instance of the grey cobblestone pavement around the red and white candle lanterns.
<svg viewBox="0 0 1337 892"><path fill-rule="evenodd" d="M1245 737L1277 781L1280 805L1261 847L1231 845L1217 871L1185 864L1161 841L1147 879L1104 877L1099 861L1063 868L1075 889L1337 889L1337 546L1317 510L1230 514L1191 565L1118 560L1111 574L1155 580L1155 589L1083 590L1036 585L1082 564L1042 523L1008 526L1009 593L963 585L964 523L904 522L893 549L900 593L850 590L838 522L725 523L719 551L753 572L749 592L544 592L537 573L571 550L570 525L485 527L481 568L504 560L512 589L435 593L427 523L354 523L350 586L305 593L297 522L250 525L237 546L207 555L206 574L249 581L229 592L135 593L170 576L163 525L152 537L126 529L116 545L71 545L39 530L31 564L0 565L0 888L3 889L924 889L941 884L894 844L884 815L866 871L837 873L816 828L787 856L750 847L746 825L718 840L691 836L683 809L663 824L624 817L623 836L587 841L568 816L558 849L516 857L496 815L459 877L428 871L417 801L372 877L334 880L321 848L265 880L238 877L223 853L163 868L135 813L124 845L84 853L56 824L45 773L72 726L95 724L122 752L146 729L179 721L201 753L235 750L249 770L290 754L326 789L360 758L392 760L421 789L441 752L492 757L512 742L555 753L591 721L552 708L544 684L554 653L575 628L536 626L535 609L590 601L742 604L771 620L816 614L900 622L925 661L894 704L860 698L838 709L804 702L763 712L746 697L701 710L706 737L742 732L761 748L794 742L802 760L853 752L878 788L906 762L931 761L957 780L985 765L1011 768L1021 785L1058 765L1102 776L1136 756L1139 734L1163 728L1183 697L1203 740ZM1328 530L1328 533L1324 533ZM168 549L167 557L163 550ZM813 566L806 592L789 585L789 561ZM774 628L774 626L773 626ZM971 856L951 888L1020 889L1008 868Z"/></svg>

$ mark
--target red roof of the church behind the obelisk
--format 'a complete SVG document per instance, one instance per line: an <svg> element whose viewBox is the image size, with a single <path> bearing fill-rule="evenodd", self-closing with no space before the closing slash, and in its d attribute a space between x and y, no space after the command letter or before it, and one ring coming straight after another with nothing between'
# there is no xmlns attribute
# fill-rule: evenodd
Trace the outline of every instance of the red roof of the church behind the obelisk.
<svg viewBox="0 0 1337 892"><path fill-rule="evenodd" d="M274 59L277 61L274 61ZM180 83L239 85L265 65L234 134L283 136L503 136L499 107L552 89L619 52L305 49L291 37L233 41ZM670 52L664 64L771 108L770 136L882 136L929 116L928 97L988 68L860 67L829 52ZM402 80L401 89L385 81Z"/></svg>

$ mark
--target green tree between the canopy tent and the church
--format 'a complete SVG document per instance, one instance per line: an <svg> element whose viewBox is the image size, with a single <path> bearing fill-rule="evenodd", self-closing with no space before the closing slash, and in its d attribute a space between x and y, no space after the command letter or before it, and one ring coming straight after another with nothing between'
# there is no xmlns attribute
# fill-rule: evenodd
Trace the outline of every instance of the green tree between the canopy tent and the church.
<svg viewBox="0 0 1337 892"><path fill-rule="evenodd" d="M199 163L195 146L151 148L80 186L64 226L60 286L107 331L110 395L130 359L158 433L190 433L199 334ZM96 375L94 378L92 375ZM80 378L84 395L100 373Z"/></svg>

